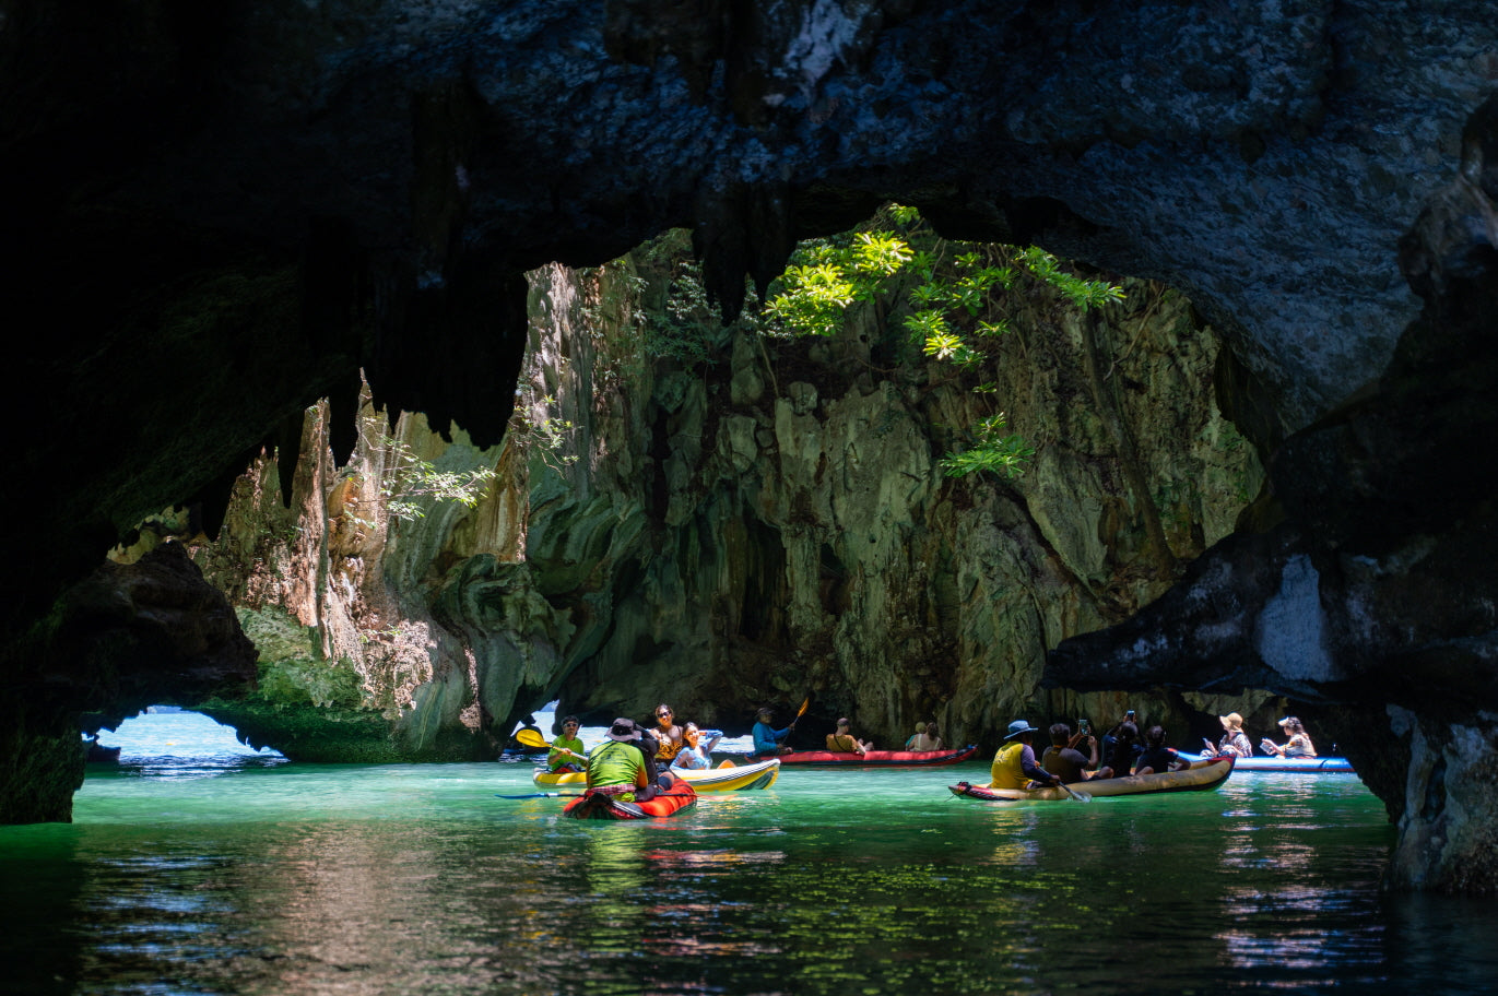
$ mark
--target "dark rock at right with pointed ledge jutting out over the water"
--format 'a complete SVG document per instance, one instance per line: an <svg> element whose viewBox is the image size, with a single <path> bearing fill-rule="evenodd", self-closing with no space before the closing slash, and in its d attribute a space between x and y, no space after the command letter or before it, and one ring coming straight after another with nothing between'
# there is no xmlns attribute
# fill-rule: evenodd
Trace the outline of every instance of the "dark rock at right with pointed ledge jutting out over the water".
<svg viewBox="0 0 1498 996"><path fill-rule="evenodd" d="M1333 705L1327 726L1399 821L1393 881L1467 891L1498 884L1498 535L1491 481L1473 472L1498 434L1495 204L1498 99L1402 243L1426 307L1393 362L1276 452L1288 521L1218 545L1167 598L1052 662L1082 687L1124 674Z"/></svg>

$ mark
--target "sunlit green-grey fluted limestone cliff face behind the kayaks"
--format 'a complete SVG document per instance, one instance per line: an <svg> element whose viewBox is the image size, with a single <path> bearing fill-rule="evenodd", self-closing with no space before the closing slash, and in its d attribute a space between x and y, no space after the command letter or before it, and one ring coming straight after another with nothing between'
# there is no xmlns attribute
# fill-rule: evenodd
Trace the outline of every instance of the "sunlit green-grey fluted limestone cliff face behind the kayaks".
<svg viewBox="0 0 1498 996"><path fill-rule="evenodd" d="M327 410L310 412L291 509L262 460L199 553L261 650L261 690L208 711L315 759L493 756L557 695L596 722L668 698L739 729L810 696L804 725L849 714L882 743L924 719L987 743L1026 711L1121 713L1113 695L1040 690L1047 650L1164 592L1263 481L1189 301L1131 282L1125 304L1085 313L1016 289L986 315L1013 331L962 374L882 309L812 340L698 310L664 340L682 252L667 238L532 274L503 448L401 419L434 466L497 467L472 509L392 517L380 416L340 470ZM936 458L999 404L1031 469L942 476ZM1182 728L1179 701L1132 704Z"/></svg>

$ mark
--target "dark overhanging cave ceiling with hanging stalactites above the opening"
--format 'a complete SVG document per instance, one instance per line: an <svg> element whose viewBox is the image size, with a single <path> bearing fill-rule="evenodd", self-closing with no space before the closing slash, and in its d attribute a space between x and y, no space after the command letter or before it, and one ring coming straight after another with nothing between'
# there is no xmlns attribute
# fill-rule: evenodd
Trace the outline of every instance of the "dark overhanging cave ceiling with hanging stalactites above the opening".
<svg viewBox="0 0 1498 996"><path fill-rule="evenodd" d="M1437 330L1476 347L1492 328L1491 124L1467 186L1446 186L1494 90L1494 51L1483 4L1438 0L148 0L90 18L0 0L0 271L24 324L12 398L31 415L3 508L19 566L0 598L3 674L37 689L6 726L55 738L78 714L75 687L31 680L57 653L39 623L100 551L184 497L216 532L247 458L295 439L319 397L351 413L361 367L377 401L491 445L526 340L523 271L691 225L733 303L742 274L765 279L797 235L885 198L951 235L1034 240L1189 294L1251 374L1230 392L1239 428L1275 449L1317 427L1291 448L1303 457L1276 460L1291 524L1315 550L1323 518L1345 520L1326 544L1413 578L1410 556L1342 536L1384 535L1389 511L1410 508L1368 493L1423 464L1360 440L1372 412L1399 412L1474 446L1437 478L1456 515L1414 521L1444 550L1480 539L1471 496L1491 436L1453 427L1483 424L1468 398L1492 382L1474 364L1452 391L1423 349ZM1425 332L1396 355L1420 301L1393 247L1428 201L1440 231L1408 255ZM1320 425L1392 358L1372 407ZM1321 590L1330 565L1311 563ZM1456 674L1485 666L1456 649L1486 632L1486 575L1464 577L1455 556L1417 563L1440 581L1417 589L1423 644ZM1446 611L1443 593L1473 611ZM1354 675L1410 650L1395 631L1360 634L1362 656L1339 661ZM1408 683L1380 689L1431 743L1455 737L1411 708ZM1347 707L1387 735L1387 707ZM1480 861L1470 879L1443 870L1473 854L1446 840L1440 867L1410 881L1494 888Z"/></svg>

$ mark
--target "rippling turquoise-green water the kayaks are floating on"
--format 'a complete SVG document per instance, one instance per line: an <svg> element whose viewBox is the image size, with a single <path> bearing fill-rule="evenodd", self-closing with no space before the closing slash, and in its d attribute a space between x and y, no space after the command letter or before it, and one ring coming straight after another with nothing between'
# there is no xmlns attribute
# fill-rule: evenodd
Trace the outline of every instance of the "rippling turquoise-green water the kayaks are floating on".
<svg viewBox="0 0 1498 996"><path fill-rule="evenodd" d="M166 741L199 717L144 719ZM1393 831L1356 776L1004 806L945 791L984 765L788 770L595 824L496 798L526 762L186 747L94 765L72 825L0 828L0 992L1435 995L1498 971L1498 905L1378 891Z"/></svg>

